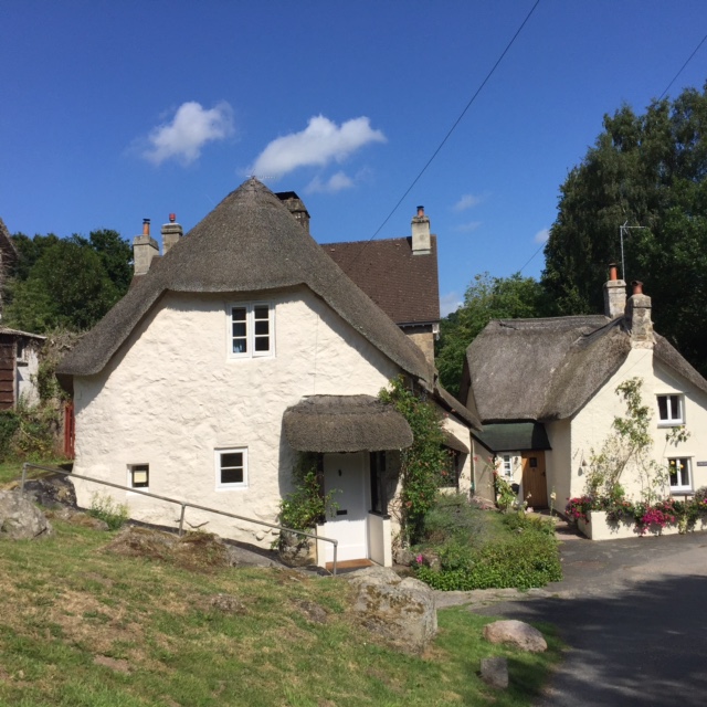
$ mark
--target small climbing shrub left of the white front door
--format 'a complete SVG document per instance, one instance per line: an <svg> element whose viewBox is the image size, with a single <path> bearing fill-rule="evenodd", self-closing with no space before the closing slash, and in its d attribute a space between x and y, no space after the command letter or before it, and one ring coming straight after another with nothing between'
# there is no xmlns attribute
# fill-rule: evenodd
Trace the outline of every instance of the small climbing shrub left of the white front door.
<svg viewBox="0 0 707 707"><path fill-rule="evenodd" d="M336 490L325 496L315 454L299 454L293 479L295 490L279 502L279 523L283 526L293 530L309 530L323 523L326 516L336 513Z"/></svg>

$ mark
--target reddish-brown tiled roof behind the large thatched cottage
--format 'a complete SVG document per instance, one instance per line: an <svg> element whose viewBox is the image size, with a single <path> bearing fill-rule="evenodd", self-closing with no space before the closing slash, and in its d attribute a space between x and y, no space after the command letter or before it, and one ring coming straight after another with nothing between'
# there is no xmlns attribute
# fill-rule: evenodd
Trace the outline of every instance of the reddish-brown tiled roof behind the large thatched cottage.
<svg viewBox="0 0 707 707"><path fill-rule="evenodd" d="M321 247L400 326L440 320L436 235L431 241L429 255L413 255L411 238Z"/></svg>

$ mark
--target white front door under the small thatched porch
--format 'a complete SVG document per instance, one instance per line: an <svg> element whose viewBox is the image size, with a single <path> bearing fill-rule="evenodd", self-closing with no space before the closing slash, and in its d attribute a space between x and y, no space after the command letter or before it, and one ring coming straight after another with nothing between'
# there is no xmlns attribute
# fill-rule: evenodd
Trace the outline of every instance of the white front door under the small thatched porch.
<svg viewBox="0 0 707 707"><path fill-rule="evenodd" d="M334 517L327 517L325 535L339 541L337 561L368 558L366 457L363 453L324 455L324 493L336 489L338 505ZM334 560L334 546L327 546L327 562Z"/></svg>

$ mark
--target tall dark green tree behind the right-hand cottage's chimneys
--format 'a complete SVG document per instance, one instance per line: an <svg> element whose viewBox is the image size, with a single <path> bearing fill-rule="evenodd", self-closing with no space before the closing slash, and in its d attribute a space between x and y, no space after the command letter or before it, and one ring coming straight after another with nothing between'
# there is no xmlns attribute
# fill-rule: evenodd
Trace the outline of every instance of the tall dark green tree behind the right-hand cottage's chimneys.
<svg viewBox="0 0 707 707"><path fill-rule="evenodd" d="M558 217L545 249L542 286L559 314L603 309L606 266L641 279L653 319L707 373L707 85L644 115L623 106L560 188Z"/></svg>

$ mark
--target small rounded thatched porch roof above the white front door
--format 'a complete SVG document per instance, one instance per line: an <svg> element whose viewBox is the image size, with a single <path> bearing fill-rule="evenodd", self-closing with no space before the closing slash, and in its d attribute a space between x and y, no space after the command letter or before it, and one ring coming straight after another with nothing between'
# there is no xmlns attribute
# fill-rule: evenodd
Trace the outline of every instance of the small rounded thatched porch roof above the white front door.
<svg viewBox="0 0 707 707"><path fill-rule="evenodd" d="M371 395L310 395L285 410L283 428L299 452L382 452L412 444L405 419Z"/></svg>

